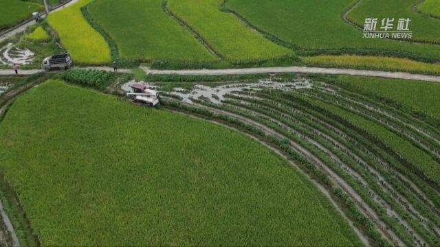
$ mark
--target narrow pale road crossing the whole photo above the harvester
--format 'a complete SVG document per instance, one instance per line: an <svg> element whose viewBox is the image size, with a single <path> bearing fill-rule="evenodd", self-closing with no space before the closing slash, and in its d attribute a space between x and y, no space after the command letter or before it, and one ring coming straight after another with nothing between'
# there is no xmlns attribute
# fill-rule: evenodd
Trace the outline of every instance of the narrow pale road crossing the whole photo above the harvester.
<svg viewBox="0 0 440 247"><path fill-rule="evenodd" d="M110 67L87 67L84 69L98 69L104 71L113 71ZM248 69L182 69L182 70L158 70L143 68L150 75L249 75L259 73L322 73L329 75L362 75L380 78L394 78L403 80L421 80L426 82L439 82L440 76L419 75L403 72L387 71L367 71L361 69L331 69L318 67L267 67L267 68L248 68ZM21 70L19 75L33 75L43 72L41 69ZM129 69L118 69L119 73L129 73ZM0 69L1 75L14 75L12 69Z"/></svg>

